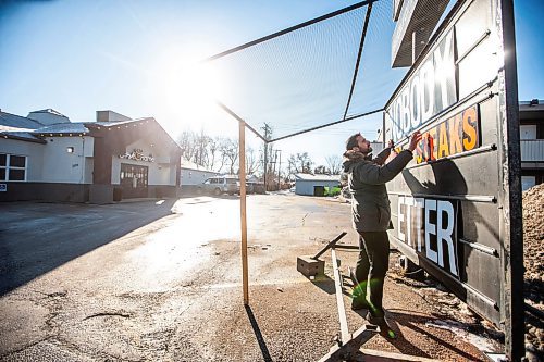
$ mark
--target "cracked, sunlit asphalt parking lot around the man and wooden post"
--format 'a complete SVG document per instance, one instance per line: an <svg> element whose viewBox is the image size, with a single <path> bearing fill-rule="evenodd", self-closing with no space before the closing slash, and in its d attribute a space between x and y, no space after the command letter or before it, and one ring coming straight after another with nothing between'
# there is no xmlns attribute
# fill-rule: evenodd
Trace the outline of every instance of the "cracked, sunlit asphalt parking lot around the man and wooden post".
<svg viewBox="0 0 544 362"><path fill-rule="evenodd" d="M17 202L0 204L0 212L1 361L316 361L338 334L330 253L324 278L296 271L297 255L314 253L343 230L355 245L349 204L336 199L248 197L246 308L237 196ZM355 252L338 254L343 267L355 263ZM432 288L416 289L386 280L385 307L399 338L378 335L364 348L483 359L468 342L472 335L438 323L456 317L474 327L474 316L441 314L428 297ZM455 297L436 292L463 311ZM351 330L364 323L349 310L347 319ZM500 346L487 338L483 348Z"/></svg>

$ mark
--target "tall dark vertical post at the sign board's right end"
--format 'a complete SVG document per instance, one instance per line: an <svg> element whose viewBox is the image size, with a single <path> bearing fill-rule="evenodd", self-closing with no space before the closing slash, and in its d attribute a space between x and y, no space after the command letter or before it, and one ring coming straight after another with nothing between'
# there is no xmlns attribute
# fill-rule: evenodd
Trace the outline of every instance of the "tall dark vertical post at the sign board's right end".
<svg viewBox="0 0 544 362"><path fill-rule="evenodd" d="M503 136L498 149L503 179L499 196L503 205L505 349L510 361L520 361L524 355L523 224L514 2L498 0L496 11L499 47L504 52L504 67L498 74L498 118Z"/></svg>

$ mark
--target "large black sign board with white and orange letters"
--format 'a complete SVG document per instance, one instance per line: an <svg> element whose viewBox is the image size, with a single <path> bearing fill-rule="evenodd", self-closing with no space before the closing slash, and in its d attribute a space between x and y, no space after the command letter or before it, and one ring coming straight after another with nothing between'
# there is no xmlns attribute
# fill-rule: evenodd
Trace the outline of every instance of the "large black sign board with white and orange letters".
<svg viewBox="0 0 544 362"><path fill-rule="evenodd" d="M384 112L413 160L391 183L390 239L523 353L522 225L511 0L458 1ZM394 154L392 154L394 157Z"/></svg>

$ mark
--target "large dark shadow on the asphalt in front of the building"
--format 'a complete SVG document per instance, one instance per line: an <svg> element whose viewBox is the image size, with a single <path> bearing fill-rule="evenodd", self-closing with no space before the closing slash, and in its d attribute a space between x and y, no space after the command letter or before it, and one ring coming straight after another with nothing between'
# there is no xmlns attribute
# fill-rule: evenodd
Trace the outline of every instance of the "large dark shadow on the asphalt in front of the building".
<svg viewBox="0 0 544 362"><path fill-rule="evenodd" d="M107 205L2 203L0 296L172 214L177 199Z"/></svg>

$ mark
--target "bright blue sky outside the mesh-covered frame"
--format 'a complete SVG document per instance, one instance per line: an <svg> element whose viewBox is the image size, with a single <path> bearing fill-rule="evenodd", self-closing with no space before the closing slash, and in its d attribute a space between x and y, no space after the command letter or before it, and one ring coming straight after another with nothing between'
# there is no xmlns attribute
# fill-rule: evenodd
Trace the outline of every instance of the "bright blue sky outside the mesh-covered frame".
<svg viewBox="0 0 544 362"><path fill-rule="evenodd" d="M175 136L187 126L169 96L181 91L171 76L180 59L197 61L355 2L0 0L0 108L20 115L53 108L74 122L94 121L95 111L109 109L154 116ZM544 99L544 5L542 0L515 5L519 99ZM205 126L236 133L234 122L219 118L224 114L218 111L215 123ZM370 133L379 123L354 121L345 128ZM301 139L310 145L297 149ZM301 139L279 146L316 158L342 151L343 139L330 148L318 136Z"/></svg>

